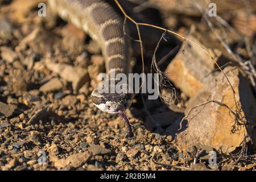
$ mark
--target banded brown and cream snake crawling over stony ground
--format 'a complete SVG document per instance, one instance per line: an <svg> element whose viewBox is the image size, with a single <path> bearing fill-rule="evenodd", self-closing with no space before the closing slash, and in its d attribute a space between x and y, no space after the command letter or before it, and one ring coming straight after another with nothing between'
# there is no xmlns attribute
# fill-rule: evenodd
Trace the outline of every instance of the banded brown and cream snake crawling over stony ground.
<svg viewBox="0 0 256 182"><path fill-rule="evenodd" d="M129 73L131 47L129 39L123 33L123 21L104 0L49 0L51 10L60 18L71 22L100 45L105 59L106 73ZM131 104L128 93L98 93L91 95L94 105L100 110L118 114Z"/></svg>

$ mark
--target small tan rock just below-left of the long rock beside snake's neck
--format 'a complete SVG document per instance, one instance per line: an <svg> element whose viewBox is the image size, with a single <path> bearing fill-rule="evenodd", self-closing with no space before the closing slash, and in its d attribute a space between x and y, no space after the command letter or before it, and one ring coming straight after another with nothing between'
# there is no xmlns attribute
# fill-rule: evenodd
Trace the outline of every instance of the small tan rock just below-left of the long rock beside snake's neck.
<svg viewBox="0 0 256 182"><path fill-rule="evenodd" d="M52 78L46 84L40 86L40 91L44 93L55 92L63 88L63 84L59 78Z"/></svg>

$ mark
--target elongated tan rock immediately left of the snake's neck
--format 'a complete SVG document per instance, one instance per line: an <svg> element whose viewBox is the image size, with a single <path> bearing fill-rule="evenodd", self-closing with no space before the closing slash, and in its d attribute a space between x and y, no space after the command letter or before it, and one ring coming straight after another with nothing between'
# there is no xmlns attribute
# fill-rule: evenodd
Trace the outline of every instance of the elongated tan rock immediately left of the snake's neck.
<svg viewBox="0 0 256 182"><path fill-rule="evenodd" d="M82 85L89 81L89 75L85 68L73 67L68 64L52 63L50 60L46 60L46 67L65 80L72 82L73 90L77 92Z"/></svg>

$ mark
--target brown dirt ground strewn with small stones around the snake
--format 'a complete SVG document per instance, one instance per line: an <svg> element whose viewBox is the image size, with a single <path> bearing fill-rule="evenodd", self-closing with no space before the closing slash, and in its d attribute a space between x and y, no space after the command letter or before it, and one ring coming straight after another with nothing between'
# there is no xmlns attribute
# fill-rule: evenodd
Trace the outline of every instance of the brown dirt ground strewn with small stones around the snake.
<svg viewBox="0 0 256 182"><path fill-rule="evenodd" d="M165 119L183 118L184 111L165 115L170 107L141 94L126 111L134 126L133 136L128 137L122 118L102 113L90 99L97 85L95 77L105 69L97 43L60 18L38 16L39 2L0 0L0 170L256 169L255 150L250 148L242 155L217 152L216 164L209 164L208 154L199 152L199 148L180 151L172 142L174 136L164 132L172 122L159 129L148 118L161 113ZM127 6L127 11L134 6ZM157 7L134 15L138 17L181 35L186 35L192 24L202 23L200 17L169 16ZM150 72L162 32L146 27L141 31L145 71ZM177 47L168 58L172 60L182 49L182 40L172 35L166 39L157 56L163 57ZM134 72L141 72L138 44L134 49ZM241 48L243 52L245 47ZM47 67L49 61L51 68ZM165 62L160 68L164 71L167 65ZM65 76L61 73L64 70ZM84 81L84 85L77 85L77 80ZM253 86L250 88L253 90ZM176 90L179 103L174 104L185 107L189 97ZM240 150L238 147L234 154Z"/></svg>

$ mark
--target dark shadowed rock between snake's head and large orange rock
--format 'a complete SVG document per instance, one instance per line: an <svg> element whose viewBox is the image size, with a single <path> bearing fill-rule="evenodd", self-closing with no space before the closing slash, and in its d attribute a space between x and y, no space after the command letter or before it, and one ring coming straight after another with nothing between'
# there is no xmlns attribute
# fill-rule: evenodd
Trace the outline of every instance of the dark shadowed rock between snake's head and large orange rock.
<svg viewBox="0 0 256 182"><path fill-rule="evenodd" d="M174 111L166 111L164 113L154 114L151 115L151 117L146 118L145 127L146 129L152 129L156 128L156 125L162 127L168 126L175 122L175 120L180 116L180 113L175 113Z"/></svg>

